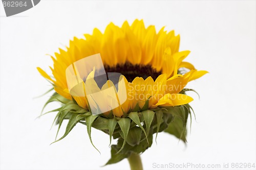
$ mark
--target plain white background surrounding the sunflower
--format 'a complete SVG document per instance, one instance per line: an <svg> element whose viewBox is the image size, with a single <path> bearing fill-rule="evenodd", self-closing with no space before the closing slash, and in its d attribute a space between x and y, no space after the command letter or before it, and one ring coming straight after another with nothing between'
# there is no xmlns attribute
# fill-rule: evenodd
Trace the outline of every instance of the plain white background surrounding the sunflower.
<svg viewBox="0 0 256 170"><path fill-rule="evenodd" d="M129 169L127 160L100 167L110 158L109 136L92 130L101 155L92 147L86 127L77 125L54 141L55 113L35 119L50 88L36 70L48 69L58 47L69 45L113 21L121 26L136 18L157 30L181 35L186 61L210 74L191 82L195 99L191 133L185 146L166 133L142 154L144 169L153 163L221 164L255 161L255 1L41 1L34 8L5 17L1 29L1 169ZM50 71L49 71L50 72ZM58 107L49 105L46 110ZM66 124L65 124L66 125ZM64 126L63 126L64 127ZM60 135L63 133L61 130ZM169 168L172 169L172 168ZM174 168L173 168L174 169ZM189 168L188 168L189 169ZM230 168L231 169L231 168Z"/></svg>

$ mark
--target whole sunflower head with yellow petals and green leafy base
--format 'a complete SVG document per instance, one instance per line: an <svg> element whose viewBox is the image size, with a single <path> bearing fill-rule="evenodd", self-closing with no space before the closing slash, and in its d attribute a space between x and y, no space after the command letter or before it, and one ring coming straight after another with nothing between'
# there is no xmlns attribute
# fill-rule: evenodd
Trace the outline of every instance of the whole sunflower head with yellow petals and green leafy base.
<svg viewBox="0 0 256 170"><path fill-rule="evenodd" d="M50 69L53 77L41 68L37 69L53 84L56 91L54 98L47 103L60 101L64 104L62 108L54 110L59 111L56 116L59 127L63 119L69 119L71 127L67 126L63 137L74 127L74 117L75 122L87 125L89 136L91 127L109 134L110 139L113 135L122 144L113 145L114 158L108 164L121 160L116 160L116 154L122 154L123 159L131 154L144 152L152 143L150 138L153 133L165 130L185 141L184 127L191 109L188 103L193 99L185 94L189 89L184 87L207 71L198 71L193 64L183 61L189 51L180 52L179 44L180 36L175 35L174 31L167 32L163 27L156 32L154 26L145 27L143 20L136 19L131 26L127 21L121 27L110 23L104 33L95 28L92 35L74 37L66 50L59 48L59 53L51 56L53 67L50 66ZM101 102L95 102L97 106L90 105L86 95L72 93L66 73L75 62L95 54L100 54L106 73L121 74L118 86L107 80L99 87L94 80L95 68L92 68L87 79L80 77L82 89L91 88L94 92L101 92L113 87L114 91L110 95L119 98L126 96L123 102L118 100L116 107L101 111L103 114L99 115L92 115L92 107L96 110L108 107L111 101L102 98ZM185 74L181 74L182 68L187 70ZM175 117L178 118L174 119ZM176 123L180 125L180 120L181 131L175 134L171 128ZM130 133L138 134L138 138L134 139Z"/></svg>

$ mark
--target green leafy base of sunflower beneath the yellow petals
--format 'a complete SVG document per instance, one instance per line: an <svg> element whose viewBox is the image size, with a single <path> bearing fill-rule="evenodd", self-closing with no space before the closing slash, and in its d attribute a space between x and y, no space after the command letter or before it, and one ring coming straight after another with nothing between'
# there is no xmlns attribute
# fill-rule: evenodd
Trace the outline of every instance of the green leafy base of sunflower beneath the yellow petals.
<svg viewBox="0 0 256 170"><path fill-rule="evenodd" d="M185 91L187 90L184 89L183 92ZM132 153L143 153L151 147L154 133L156 133L157 138L157 134L164 131L186 142L187 119L188 115L191 117L190 110L193 111L188 104L148 109L147 100L142 108L137 105L134 110L122 117L115 117L113 114L106 117L103 114L92 115L89 110L81 108L75 101L67 100L57 93L51 96L46 105L54 101L62 103L62 107L50 111L58 112L54 119L58 125L57 135L63 120L69 120L65 134L58 140L55 139L54 142L66 137L77 123L81 123L87 126L90 141L94 146L91 129L93 127L101 130L110 136L110 144L112 137L118 139L117 144L111 145L111 159L106 165L128 158ZM94 148L96 149L95 146Z"/></svg>

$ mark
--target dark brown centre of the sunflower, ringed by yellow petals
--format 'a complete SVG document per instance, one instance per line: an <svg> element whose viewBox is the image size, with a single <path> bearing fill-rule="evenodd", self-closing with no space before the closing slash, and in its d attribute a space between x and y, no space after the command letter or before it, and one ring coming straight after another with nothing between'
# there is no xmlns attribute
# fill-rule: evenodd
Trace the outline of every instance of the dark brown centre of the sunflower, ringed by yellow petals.
<svg viewBox="0 0 256 170"><path fill-rule="evenodd" d="M129 62L116 66L104 65L104 68L106 72L119 72L128 82L132 82L136 77L142 77L145 80L149 76L156 80L161 75L161 71L156 71L151 65L133 65Z"/></svg>

